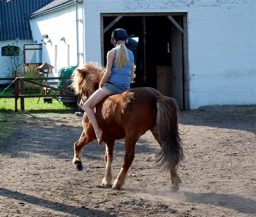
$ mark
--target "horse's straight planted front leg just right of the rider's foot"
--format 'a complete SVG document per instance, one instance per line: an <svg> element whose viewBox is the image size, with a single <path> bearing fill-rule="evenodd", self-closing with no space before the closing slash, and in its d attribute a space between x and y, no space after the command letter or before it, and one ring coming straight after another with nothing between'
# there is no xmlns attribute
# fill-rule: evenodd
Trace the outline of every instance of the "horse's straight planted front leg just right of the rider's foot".
<svg viewBox="0 0 256 217"><path fill-rule="evenodd" d="M115 140L108 140L104 142L106 143L106 152L105 152L106 173L105 173L105 177L102 179L102 185L109 186L112 184L112 181L113 181L111 164L113 159L113 149L115 145Z"/></svg>

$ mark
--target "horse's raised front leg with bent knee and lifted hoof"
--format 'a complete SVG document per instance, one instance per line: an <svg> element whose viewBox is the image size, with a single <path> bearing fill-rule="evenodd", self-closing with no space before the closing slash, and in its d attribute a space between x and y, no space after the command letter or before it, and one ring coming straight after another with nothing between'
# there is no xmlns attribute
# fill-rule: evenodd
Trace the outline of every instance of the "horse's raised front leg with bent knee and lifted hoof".
<svg viewBox="0 0 256 217"><path fill-rule="evenodd" d="M96 139L92 124L89 122L87 115L83 117L83 132L77 142L74 143L74 158L73 164L77 171L82 172L84 166L81 160L82 149L85 145Z"/></svg>

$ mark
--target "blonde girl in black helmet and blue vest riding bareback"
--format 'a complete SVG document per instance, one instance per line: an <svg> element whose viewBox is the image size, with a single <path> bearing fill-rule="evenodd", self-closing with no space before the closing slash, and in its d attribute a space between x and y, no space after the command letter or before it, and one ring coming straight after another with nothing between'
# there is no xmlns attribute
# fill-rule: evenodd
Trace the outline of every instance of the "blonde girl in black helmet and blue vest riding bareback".
<svg viewBox="0 0 256 217"><path fill-rule="evenodd" d="M99 89L83 104L83 109L94 127L100 146L103 131L98 126L94 107L106 96L130 89L130 82L134 78L134 56L125 46L127 39L126 30L115 29L113 31L111 43L115 45L115 48L107 54L107 67L99 84Z"/></svg>

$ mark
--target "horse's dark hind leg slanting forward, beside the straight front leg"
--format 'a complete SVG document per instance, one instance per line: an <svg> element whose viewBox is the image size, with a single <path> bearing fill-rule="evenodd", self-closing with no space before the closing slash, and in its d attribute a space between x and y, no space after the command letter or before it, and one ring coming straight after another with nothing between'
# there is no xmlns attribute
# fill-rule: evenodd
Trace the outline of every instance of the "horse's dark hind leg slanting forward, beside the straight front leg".
<svg viewBox="0 0 256 217"><path fill-rule="evenodd" d="M125 140L124 163L123 163L122 169L120 170L120 172L112 186L113 189L120 189L124 184L127 171L134 159L135 144L137 142L137 138L138 137L135 136L133 138L126 138L126 140Z"/></svg>

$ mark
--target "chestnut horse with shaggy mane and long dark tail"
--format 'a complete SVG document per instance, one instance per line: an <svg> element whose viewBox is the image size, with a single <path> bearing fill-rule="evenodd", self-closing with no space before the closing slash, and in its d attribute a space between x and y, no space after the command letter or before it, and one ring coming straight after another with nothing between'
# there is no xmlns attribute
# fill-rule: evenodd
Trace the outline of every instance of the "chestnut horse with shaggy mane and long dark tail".
<svg viewBox="0 0 256 217"><path fill-rule="evenodd" d="M72 75L71 87L76 94L82 94L80 105L98 89L105 68L89 62L83 69L76 69ZM150 130L161 146L156 155L156 162L171 171L172 191L179 189L181 178L177 174L179 162L183 159L183 148L178 130L179 108L175 100L159 93L153 88L133 88L105 97L95 108L99 127L103 131L103 142L106 143L106 173L102 180L105 186L111 186L113 178L111 163L115 140L125 138L124 163L112 188L123 186L127 171L134 159L135 144L141 135ZM73 164L78 171L83 171L81 160L82 148L96 140L86 113L83 116L83 132L74 144Z"/></svg>

